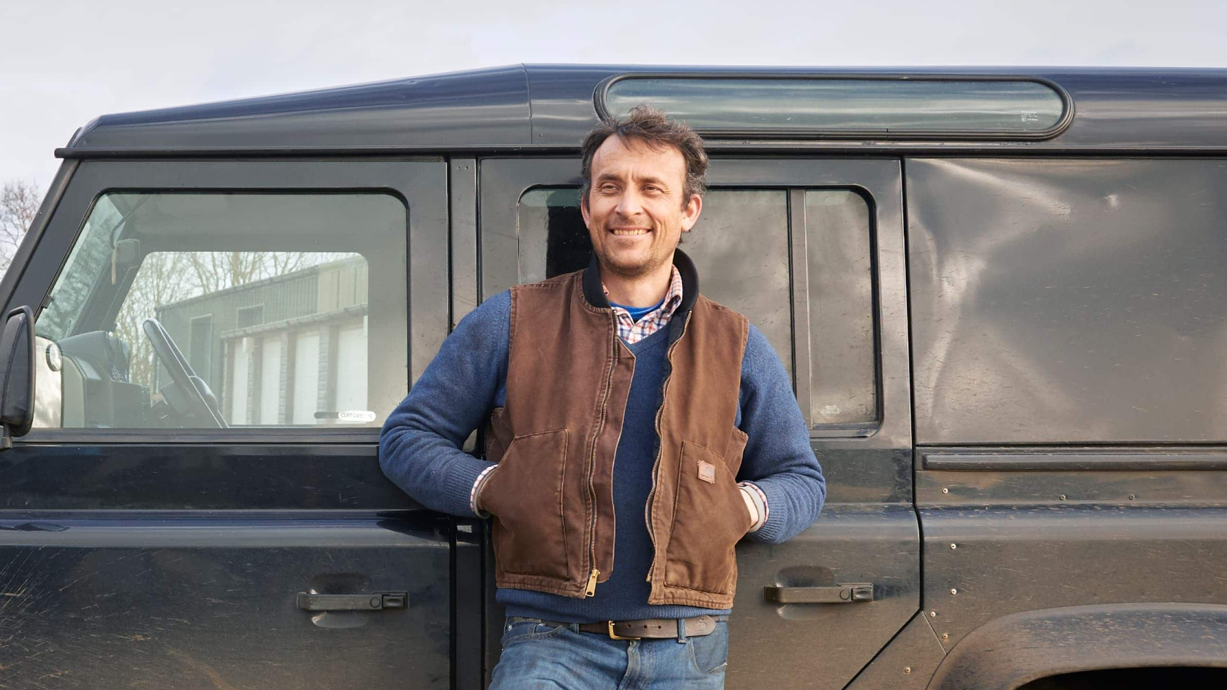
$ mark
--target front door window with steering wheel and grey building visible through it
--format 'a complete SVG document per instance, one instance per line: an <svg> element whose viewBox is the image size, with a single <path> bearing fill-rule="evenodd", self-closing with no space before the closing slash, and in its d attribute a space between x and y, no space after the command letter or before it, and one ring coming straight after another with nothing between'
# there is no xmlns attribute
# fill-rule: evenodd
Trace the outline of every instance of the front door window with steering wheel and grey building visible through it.
<svg viewBox="0 0 1227 690"><path fill-rule="evenodd" d="M36 425L378 427L406 224L387 194L101 196L38 317Z"/></svg>

